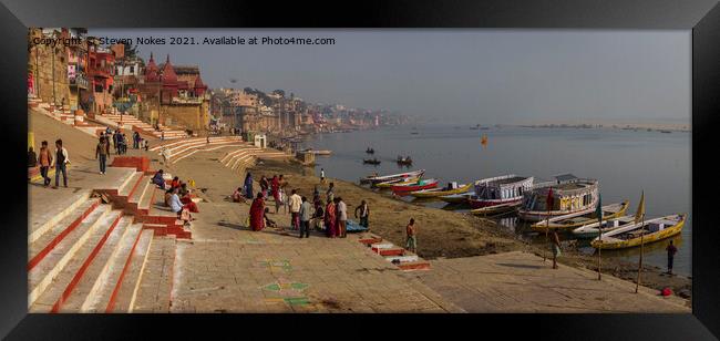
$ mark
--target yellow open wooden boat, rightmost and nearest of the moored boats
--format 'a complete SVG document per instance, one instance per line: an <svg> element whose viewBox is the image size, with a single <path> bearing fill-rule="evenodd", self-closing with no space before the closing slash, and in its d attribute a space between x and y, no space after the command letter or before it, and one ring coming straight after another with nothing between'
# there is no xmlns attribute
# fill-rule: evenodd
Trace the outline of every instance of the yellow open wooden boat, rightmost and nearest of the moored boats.
<svg viewBox="0 0 720 341"><path fill-rule="evenodd" d="M660 218L645 220L623 228L603 234L603 239L597 237L590 245L596 249L626 249L640 246L640 242L650 244L672 237L682 231L687 215L669 215ZM644 236L642 236L644 235Z"/></svg>

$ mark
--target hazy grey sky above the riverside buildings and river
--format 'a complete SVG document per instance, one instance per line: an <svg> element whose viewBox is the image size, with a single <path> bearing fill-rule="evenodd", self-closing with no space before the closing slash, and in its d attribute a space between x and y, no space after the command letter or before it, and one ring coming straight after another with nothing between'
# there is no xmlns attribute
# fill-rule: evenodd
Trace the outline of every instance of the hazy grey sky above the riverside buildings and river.
<svg viewBox="0 0 720 341"><path fill-rule="evenodd" d="M619 30L89 30L90 35L333 38L335 45L140 45L210 87L453 123L690 117L691 32ZM232 84L230 79L237 79ZM435 120L438 121L438 120Z"/></svg>

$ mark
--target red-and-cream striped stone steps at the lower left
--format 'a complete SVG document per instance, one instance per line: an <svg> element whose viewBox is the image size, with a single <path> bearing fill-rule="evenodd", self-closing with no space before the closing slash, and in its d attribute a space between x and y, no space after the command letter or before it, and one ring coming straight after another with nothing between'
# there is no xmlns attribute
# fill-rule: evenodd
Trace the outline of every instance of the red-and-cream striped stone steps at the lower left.
<svg viewBox="0 0 720 341"><path fill-rule="evenodd" d="M169 311L175 242L192 234L164 209L150 172L125 169L115 186L73 197L52 219L33 223L30 312Z"/></svg>

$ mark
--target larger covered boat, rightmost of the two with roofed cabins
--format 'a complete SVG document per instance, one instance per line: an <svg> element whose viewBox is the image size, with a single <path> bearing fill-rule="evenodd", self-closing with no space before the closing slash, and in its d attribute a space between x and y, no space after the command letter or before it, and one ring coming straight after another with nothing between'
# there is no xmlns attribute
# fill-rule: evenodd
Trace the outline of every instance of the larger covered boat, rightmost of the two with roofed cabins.
<svg viewBox="0 0 720 341"><path fill-rule="evenodd" d="M546 207L547 194L553 192L553 207ZM537 184L523 195L517 216L526 221L541 221L557 216L594 210L598 200L598 182L572 174L555 176L555 182Z"/></svg>

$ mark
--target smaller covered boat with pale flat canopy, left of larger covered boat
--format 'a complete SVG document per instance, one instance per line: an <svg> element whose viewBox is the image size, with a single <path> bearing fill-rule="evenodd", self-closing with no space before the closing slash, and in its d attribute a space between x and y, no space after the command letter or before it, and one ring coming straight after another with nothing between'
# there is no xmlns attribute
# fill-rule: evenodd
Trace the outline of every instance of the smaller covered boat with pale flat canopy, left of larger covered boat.
<svg viewBox="0 0 720 341"><path fill-rule="evenodd" d="M533 187L533 177L508 174L475 182L475 194L467 198L471 208L520 203Z"/></svg>

